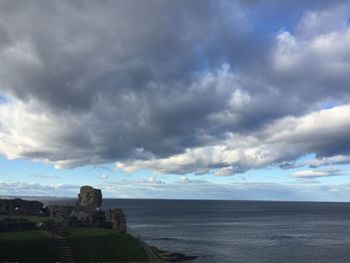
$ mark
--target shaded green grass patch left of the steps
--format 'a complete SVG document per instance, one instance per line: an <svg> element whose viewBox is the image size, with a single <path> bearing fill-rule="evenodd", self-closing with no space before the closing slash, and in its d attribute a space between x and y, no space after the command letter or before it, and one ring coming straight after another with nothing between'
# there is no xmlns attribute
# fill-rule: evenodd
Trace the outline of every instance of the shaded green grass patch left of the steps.
<svg viewBox="0 0 350 263"><path fill-rule="evenodd" d="M54 240L45 231L0 233L0 262L55 262Z"/></svg>

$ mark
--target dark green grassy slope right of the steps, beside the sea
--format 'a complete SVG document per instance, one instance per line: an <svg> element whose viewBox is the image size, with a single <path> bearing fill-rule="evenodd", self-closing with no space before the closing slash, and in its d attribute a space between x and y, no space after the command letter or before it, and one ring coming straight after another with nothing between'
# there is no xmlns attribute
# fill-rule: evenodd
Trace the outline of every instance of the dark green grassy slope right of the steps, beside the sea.
<svg viewBox="0 0 350 263"><path fill-rule="evenodd" d="M143 247L112 229L73 228L69 242L77 262L147 262Z"/></svg>

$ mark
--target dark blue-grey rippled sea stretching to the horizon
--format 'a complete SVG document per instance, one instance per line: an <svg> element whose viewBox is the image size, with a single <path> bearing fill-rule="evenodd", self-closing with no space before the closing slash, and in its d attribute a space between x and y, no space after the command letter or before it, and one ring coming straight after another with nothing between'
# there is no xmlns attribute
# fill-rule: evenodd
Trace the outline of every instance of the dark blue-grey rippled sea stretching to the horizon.
<svg viewBox="0 0 350 263"><path fill-rule="evenodd" d="M348 263L350 203L104 199L130 232L193 263Z"/></svg>

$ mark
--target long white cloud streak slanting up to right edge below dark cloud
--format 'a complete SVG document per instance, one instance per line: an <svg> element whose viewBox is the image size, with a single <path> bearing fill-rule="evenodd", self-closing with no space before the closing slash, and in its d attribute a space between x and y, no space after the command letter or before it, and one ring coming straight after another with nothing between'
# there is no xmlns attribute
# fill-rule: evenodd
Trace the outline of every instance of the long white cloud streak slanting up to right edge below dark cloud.
<svg viewBox="0 0 350 263"><path fill-rule="evenodd" d="M348 138L350 105L320 110L302 117L286 117L267 125L255 136L231 135L221 145L188 149L164 159L119 162L125 172L152 169L162 173L229 175L295 159L323 148L330 152ZM237 167L237 168L232 168Z"/></svg>

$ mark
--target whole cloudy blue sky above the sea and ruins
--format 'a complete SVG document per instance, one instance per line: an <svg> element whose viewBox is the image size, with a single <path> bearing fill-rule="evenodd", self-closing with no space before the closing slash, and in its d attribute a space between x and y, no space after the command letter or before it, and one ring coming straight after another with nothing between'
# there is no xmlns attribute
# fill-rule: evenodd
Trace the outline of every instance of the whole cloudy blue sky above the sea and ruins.
<svg viewBox="0 0 350 263"><path fill-rule="evenodd" d="M0 1L0 195L350 201L350 1Z"/></svg>

